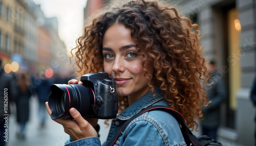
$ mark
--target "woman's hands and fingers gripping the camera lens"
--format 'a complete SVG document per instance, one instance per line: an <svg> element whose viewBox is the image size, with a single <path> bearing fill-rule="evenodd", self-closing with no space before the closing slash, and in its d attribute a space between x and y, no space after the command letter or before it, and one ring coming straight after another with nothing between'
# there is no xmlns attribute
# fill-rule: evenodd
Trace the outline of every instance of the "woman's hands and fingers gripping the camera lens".
<svg viewBox="0 0 256 146"><path fill-rule="evenodd" d="M82 84L77 80L70 80L68 84ZM46 108L49 115L52 114L48 102L46 102ZM69 134L74 140L78 140L86 137L97 137L98 134L95 130L97 126L98 119L96 118L83 118L81 114L75 109L70 109L70 114L74 118L72 119L54 119L57 123L61 124L64 128L64 131Z"/></svg>

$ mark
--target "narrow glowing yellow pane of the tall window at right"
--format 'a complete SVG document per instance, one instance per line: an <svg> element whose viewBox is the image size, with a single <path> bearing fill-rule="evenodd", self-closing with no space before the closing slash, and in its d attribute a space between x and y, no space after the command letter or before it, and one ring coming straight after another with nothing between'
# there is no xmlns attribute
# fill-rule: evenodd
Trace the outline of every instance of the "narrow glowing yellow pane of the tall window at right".
<svg viewBox="0 0 256 146"><path fill-rule="evenodd" d="M227 11L227 38L228 38L228 66L229 66L229 111L234 113L237 110L237 92L241 88L241 66L240 66L240 44L239 34L241 31L240 21L238 19L239 12L236 8ZM234 123L227 121L227 125L234 127Z"/></svg>

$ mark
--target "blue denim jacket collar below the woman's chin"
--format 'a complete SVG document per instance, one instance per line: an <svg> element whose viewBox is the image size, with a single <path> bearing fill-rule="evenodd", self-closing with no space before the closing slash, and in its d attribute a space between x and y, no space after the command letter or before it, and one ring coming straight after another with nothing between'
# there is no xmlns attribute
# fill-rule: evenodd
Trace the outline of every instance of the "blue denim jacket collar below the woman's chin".
<svg viewBox="0 0 256 146"><path fill-rule="evenodd" d="M133 117L142 109L148 106L151 106L152 104L164 99L162 91L159 88L155 89L153 94L156 94L156 95L152 96L151 91L147 92L138 101L136 101L131 106L127 107L122 113L120 113L117 116L117 118L121 120L127 120Z"/></svg>

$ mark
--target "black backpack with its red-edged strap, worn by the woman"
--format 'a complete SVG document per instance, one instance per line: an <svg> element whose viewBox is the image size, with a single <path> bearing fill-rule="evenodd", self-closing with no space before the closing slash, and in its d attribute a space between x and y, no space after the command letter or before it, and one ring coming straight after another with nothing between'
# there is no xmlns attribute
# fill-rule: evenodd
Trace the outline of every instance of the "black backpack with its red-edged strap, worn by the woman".
<svg viewBox="0 0 256 146"><path fill-rule="evenodd" d="M108 145L113 145L115 143L115 141L119 137L120 133L123 133L125 128L131 123L131 121L133 119L135 119L136 117L138 117L142 113L147 112L147 111L151 111L151 110L163 110L163 111L166 111L166 112L172 114L176 118L178 123L180 124L182 135L183 135L183 137L185 139L185 142L188 146L189 145L195 145L195 146L204 146L204 145L206 145L206 146L222 146L222 144L220 142L218 142L217 140L212 139L211 137L208 137L206 135L196 137L186 126L184 117L179 112L177 112L176 110L170 109L170 108L165 107L165 106L150 106L150 107L147 107L147 108L141 110L139 113L137 113L136 115L131 117L129 120L125 121L123 126L119 129L119 131L113 137L113 139L111 139L111 141Z"/></svg>

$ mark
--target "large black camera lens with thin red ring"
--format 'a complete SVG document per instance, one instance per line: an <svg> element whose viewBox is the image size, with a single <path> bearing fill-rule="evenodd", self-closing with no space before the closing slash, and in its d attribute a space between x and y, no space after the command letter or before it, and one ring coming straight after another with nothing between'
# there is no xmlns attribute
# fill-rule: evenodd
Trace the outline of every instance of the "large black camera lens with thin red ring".
<svg viewBox="0 0 256 146"><path fill-rule="evenodd" d="M69 110L74 107L82 116L90 114L95 106L95 95L90 87L79 84L53 84L49 95L52 119L72 118Z"/></svg>

